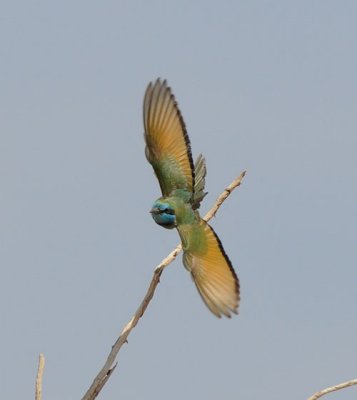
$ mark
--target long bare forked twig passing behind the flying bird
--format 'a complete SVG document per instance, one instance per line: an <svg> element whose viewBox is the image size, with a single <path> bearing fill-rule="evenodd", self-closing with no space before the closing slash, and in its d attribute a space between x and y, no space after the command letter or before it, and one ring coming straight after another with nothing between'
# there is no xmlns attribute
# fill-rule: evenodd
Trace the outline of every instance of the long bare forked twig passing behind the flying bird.
<svg viewBox="0 0 357 400"><path fill-rule="evenodd" d="M231 192L238 187L245 175L245 171L238 177L236 178L227 188L223 191L223 193L218 197L216 200L215 204L211 208L211 210L205 215L204 219L206 221L209 221L213 216L216 215L219 207L222 205L222 203L226 200L226 198L231 194ZM110 375L112 374L114 368L116 367L116 364L113 366L115 359L117 357L117 354L122 347L122 345L127 341L127 338L132 331L132 329L135 328L137 323L139 322L139 319L144 315L144 312L149 305L151 299L154 296L155 290L157 285L160 282L160 277L161 274L164 270L165 267L167 267L177 256L177 254L181 251L181 244L179 244L164 260L161 261L161 263L155 268L154 270L154 276L152 277L152 280L150 282L150 286L146 292L146 295L141 302L139 308L136 310L134 316L131 318L131 320L126 324L124 329L122 330L120 336L118 337L117 341L114 343L112 346L112 350L110 351L107 361L105 362L103 368L99 371L98 375L95 377L92 385L88 389L87 393L83 396L82 400L94 400L107 380L109 379Z"/></svg>

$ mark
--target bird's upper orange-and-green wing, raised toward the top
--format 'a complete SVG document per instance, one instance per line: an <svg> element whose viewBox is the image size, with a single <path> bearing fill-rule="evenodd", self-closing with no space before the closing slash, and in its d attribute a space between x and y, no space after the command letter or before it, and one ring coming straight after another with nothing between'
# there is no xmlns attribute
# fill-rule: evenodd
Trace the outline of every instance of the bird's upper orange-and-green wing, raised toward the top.
<svg viewBox="0 0 357 400"><path fill-rule="evenodd" d="M192 194L195 186L190 140L166 80L150 83L144 97L145 154L163 196L176 189Z"/></svg>

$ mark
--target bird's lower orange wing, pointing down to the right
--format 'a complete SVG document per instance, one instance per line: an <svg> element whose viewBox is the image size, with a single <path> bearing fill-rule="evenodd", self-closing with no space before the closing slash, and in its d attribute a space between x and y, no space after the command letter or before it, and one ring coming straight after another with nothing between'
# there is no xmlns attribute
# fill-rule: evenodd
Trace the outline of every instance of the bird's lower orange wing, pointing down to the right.
<svg viewBox="0 0 357 400"><path fill-rule="evenodd" d="M184 265L211 312L230 318L232 313L238 313L239 280L214 230L204 220L199 224L200 240L190 238L186 232ZM193 231L198 234L197 228Z"/></svg>

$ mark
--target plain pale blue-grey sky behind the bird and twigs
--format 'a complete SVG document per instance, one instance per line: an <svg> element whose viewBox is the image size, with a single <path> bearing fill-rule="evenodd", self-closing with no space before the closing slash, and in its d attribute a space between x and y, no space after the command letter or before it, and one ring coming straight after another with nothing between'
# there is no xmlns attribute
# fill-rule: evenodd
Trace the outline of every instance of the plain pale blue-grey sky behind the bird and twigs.
<svg viewBox="0 0 357 400"><path fill-rule="evenodd" d="M298 400L357 377L357 3L4 1L2 397L79 399L178 242L148 211L142 97L167 78L241 281L203 305L181 256L102 399ZM336 394L356 398L356 389ZM332 395L331 395L332 398Z"/></svg>

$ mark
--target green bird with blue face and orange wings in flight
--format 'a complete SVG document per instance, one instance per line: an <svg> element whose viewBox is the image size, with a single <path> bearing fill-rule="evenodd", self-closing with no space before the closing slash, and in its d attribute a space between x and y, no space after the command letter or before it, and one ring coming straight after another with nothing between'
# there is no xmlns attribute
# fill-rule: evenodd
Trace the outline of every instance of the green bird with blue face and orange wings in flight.
<svg viewBox="0 0 357 400"><path fill-rule="evenodd" d="M151 208L154 221L176 228L183 264L209 310L221 318L238 314L240 285L222 242L201 218L206 196L206 162L193 162L191 143L178 103L166 80L147 86L143 101L145 155L159 181L162 196Z"/></svg>

